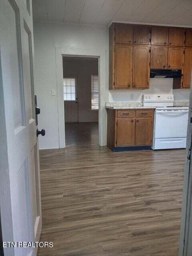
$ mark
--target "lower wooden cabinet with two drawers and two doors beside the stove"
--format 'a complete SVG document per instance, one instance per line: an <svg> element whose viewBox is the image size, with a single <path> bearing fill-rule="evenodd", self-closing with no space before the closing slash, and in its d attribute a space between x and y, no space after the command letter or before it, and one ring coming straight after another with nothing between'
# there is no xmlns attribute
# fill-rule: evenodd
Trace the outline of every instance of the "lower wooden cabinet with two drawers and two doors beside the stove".
<svg viewBox="0 0 192 256"><path fill-rule="evenodd" d="M154 109L112 110L108 109L107 146L150 146L153 137Z"/></svg>

